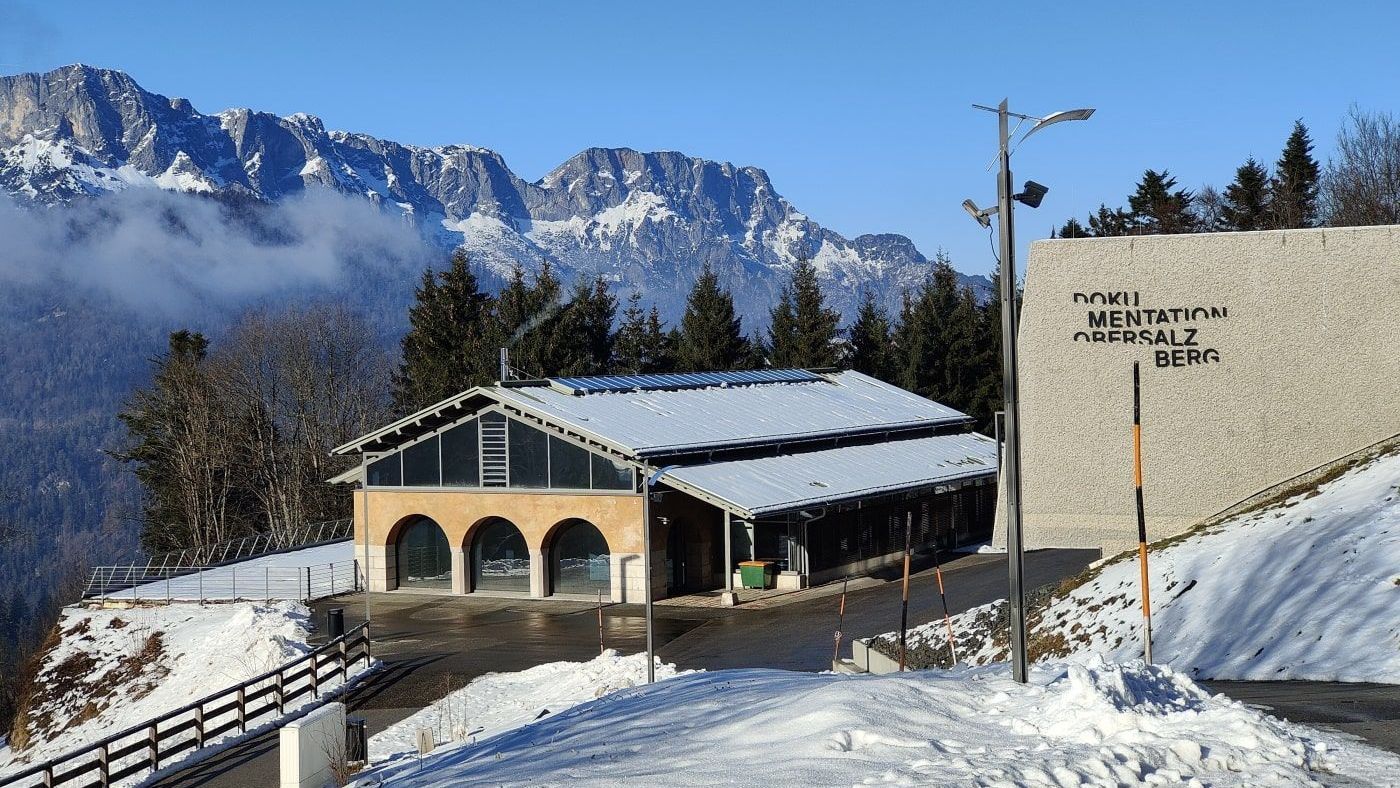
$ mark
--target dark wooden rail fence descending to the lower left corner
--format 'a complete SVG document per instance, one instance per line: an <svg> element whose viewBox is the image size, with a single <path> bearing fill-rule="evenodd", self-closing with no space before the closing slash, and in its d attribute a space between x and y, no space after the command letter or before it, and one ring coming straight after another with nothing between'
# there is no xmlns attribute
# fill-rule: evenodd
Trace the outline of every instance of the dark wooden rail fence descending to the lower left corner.
<svg viewBox="0 0 1400 788"><path fill-rule="evenodd" d="M67 754L0 777L0 788L105 788L113 782L146 775L162 764L171 766L186 750L202 750L216 736L234 729L249 732L249 725L276 711L281 718L287 704L311 696L321 700L321 687L339 675L343 687L350 665L364 659L371 663L370 624L360 624L342 637L238 686L228 687L192 704L113 733ZM329 668L329 670L326 669ZM269 697L270 696L270 697ZM258 725L252 725L258 728ZM90 775L95 774L95 780ZM78 780L87 780L78 784Z"/></svg>

